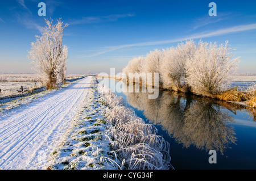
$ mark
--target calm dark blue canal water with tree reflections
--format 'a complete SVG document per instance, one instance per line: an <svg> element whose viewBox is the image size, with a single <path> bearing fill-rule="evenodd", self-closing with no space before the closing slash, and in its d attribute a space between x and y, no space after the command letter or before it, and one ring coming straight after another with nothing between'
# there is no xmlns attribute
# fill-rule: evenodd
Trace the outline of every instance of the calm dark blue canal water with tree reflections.
<svg viewBox="0 0 256 181"><path fill-rule="evenodd" d="M170 91L148 99L148 93L121 90L115 94L170 143L176 170L256 169L256 110ZM217 163L209 163L209 150L216 150Z"/></svg>

